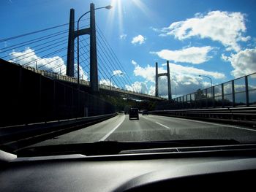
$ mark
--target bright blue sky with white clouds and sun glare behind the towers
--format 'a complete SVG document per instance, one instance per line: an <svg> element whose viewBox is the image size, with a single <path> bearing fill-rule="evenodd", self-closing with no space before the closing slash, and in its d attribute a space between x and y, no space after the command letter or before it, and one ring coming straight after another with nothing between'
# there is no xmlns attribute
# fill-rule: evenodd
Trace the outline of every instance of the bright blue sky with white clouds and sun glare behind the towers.
<svg viewBox="0 0 256 192"><path fill-rule="evenodd" d="M199 74L211 77L216 85L256 72L253 0L2 0L0 24L4 28L1 27L0 39L68 23L70 8L75 9L77 20L89 10L91 2L95 7L113 5L110 10L97 10L96 20L121 61L124 75L132 81L132 85L118 86L154 94L155 62L159 71L165 72L167 60L174 95L174 88L177 95L182 95L210 86L209 80ZM18 39L0 42L0 48L14 42ZM12 50L12 55L24 53L22 48ZM40 53L33 54L31 58L42 57ZM61 62L65 65L64 59ZM108 83L104 77L99 80ZM166 96L166 79L159 82L159 92Z"/></svg>

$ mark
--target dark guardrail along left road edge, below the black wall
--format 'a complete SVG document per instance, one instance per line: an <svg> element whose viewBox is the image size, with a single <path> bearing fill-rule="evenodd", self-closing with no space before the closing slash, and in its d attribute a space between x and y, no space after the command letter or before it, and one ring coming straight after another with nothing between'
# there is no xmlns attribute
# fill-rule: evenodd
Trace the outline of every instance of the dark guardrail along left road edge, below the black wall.
<svg viewBox="0 0 256 192"><path fill-rule="evenodd" d="M75 131L81 128L81 126L91 125L112 118L115 115L116 113L86 118L73 118L42 123L30 123L19 126L0 127L0 147L22 147L28 144L28 142L38 142L45 137Z"/></svg>

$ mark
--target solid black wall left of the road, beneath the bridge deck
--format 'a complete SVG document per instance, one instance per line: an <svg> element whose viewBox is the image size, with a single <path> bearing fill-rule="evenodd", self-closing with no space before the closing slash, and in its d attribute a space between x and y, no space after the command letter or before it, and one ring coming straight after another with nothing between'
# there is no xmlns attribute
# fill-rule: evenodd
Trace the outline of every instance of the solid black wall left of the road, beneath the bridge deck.
<svg viewBox="0 0 256 192"><path fill-rule="evenodd" d="M104 115L106 101L0 59L0 126Z"/></svg>

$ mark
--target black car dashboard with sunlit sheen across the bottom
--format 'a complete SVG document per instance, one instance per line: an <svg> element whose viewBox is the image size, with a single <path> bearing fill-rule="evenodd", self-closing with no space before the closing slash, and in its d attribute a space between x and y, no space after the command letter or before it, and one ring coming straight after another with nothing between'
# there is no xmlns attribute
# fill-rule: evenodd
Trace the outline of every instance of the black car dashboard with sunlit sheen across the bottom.
<svg viewBox="0 0 256 192"><path fill-rule="evenodd" d="M117 155L15 157L1 152L1 191L245 191L256 145L155 149Z"/></svg>

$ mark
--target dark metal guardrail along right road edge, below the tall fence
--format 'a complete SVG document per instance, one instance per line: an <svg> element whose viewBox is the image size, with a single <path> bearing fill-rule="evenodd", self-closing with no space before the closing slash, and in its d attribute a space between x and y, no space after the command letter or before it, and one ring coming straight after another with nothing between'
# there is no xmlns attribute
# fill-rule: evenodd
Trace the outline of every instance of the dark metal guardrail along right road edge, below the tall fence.
<svg viewBox="0 0 256 192"><path fill-rule="evenodd" d="M256 126L256 107L227 107L198 110L155 110L152 115L162 115L198 120L222 121L244 126Z"/></svg>

